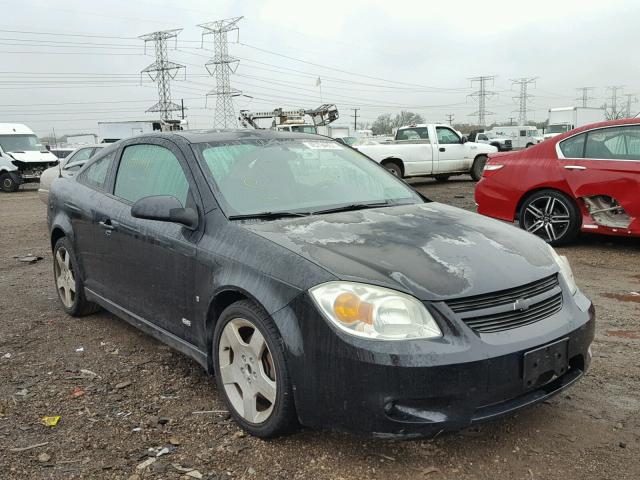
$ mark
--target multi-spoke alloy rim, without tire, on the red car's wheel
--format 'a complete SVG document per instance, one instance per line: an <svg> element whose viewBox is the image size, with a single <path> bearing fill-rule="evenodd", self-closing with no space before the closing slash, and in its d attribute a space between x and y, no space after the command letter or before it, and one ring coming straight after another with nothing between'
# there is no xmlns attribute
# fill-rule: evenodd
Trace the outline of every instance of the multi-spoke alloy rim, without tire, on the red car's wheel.
<svg viewBox="0 0 640 480"><path fill-rule="evenodd" d="M569 230L571 215L567 205L552 196L538 197L524 209L524 228L547 242L564 237Z"/></svg>

